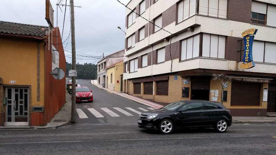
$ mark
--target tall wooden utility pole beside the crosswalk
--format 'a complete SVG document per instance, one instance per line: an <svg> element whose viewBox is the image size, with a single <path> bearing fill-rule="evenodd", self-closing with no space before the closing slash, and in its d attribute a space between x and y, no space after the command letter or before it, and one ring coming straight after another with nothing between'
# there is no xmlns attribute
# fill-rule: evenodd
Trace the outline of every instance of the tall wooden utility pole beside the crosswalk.
<svg viewBox="0 0 276 155"><path fill-rule="evenodd" d="M71 40L72 40L72 70L76 70L76 44L75 44L75 17L74 17L74 1L70 0L71 11ZM76 76L72 76L72 110L71 123L76 121Z"/></svg>

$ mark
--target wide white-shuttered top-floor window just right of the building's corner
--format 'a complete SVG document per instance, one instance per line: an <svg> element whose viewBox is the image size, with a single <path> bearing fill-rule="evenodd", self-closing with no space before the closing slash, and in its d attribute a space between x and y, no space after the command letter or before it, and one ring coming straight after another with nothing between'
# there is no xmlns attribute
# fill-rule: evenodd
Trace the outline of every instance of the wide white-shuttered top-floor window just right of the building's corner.
<svg viewBox="0 0 276 155"><path fill-rule="evenodd" d="M199 0L199 14L226 18L227 0Z"/></svg>

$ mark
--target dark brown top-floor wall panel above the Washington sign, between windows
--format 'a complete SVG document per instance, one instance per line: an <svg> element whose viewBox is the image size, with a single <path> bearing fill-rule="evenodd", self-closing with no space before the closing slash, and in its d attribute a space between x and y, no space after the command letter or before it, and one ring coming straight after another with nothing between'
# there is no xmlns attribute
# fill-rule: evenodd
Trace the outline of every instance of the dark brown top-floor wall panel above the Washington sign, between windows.
<svg viewBox="0 0 276 155"><path fill-rule="evenodd" d="M250 23L251 4L252 0L229 0L227 4L227 19Z"/></svg>

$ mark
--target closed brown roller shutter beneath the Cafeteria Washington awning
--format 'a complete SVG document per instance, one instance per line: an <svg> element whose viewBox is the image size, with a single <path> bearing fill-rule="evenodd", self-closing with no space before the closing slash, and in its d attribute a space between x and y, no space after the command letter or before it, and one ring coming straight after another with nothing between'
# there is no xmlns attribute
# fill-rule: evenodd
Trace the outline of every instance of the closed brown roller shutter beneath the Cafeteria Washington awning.
<svg viewBox="0 0 276 155"><path fill-rule="evenodd" d="M259 106L260 83L232 82L231 106Z"/></svg>

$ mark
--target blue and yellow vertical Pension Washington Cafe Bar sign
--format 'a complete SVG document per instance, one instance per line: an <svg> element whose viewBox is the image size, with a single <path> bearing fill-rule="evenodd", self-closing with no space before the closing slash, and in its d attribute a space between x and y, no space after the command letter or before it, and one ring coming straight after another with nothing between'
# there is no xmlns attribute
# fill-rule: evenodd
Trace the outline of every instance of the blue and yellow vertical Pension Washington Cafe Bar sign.
<svg viewBox="0 0 276 155"><path fill-rule="evenodd" d="M244 54L243 54L243 59L240 66L242 69L249 69L249 68L255 67L255 63L252 57L252 46L253 46L254 35L256 33L257 33L257 29L255 28L247 29L241 33L241 36L243 37L243 41L244 41Z"/></svg>

